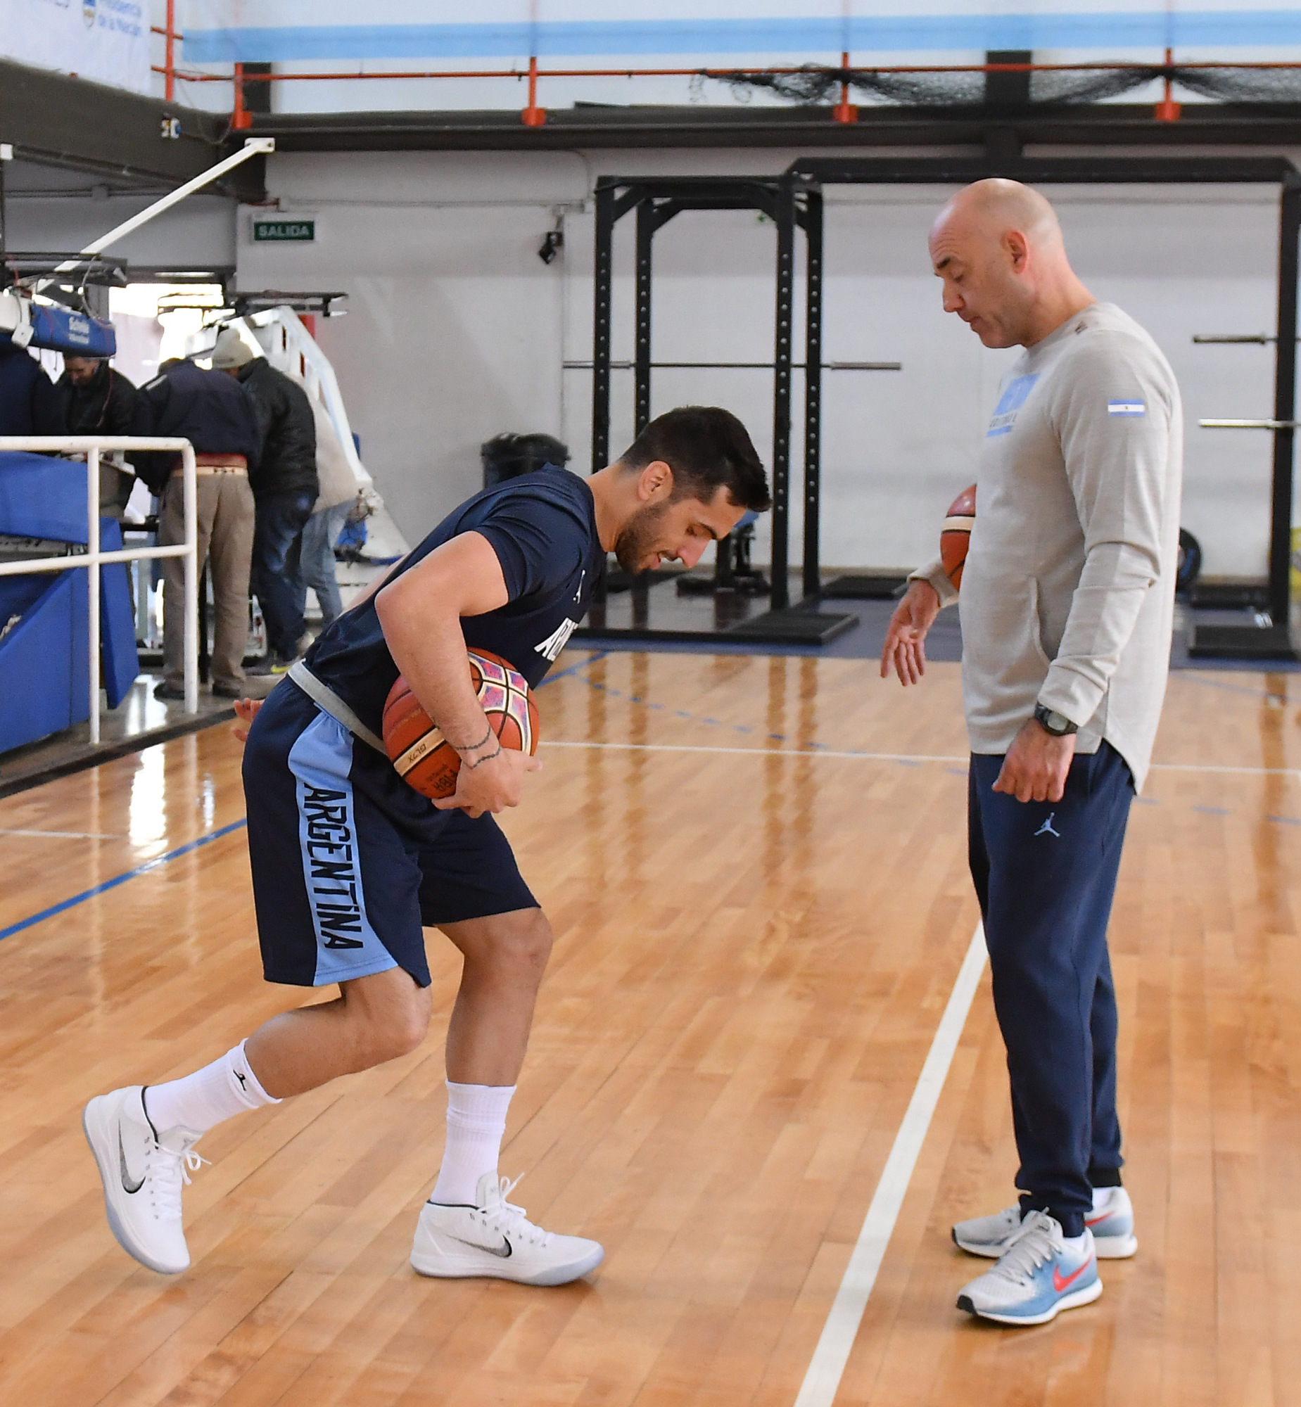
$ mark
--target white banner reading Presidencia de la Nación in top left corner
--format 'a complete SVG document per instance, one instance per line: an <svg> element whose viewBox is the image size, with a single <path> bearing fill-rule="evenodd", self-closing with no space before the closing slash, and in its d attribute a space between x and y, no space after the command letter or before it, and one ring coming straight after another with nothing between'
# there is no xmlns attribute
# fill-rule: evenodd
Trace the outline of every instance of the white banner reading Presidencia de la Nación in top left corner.
<svg viewBox="0 0 1301 1407"><path fill-rule="evenodd" d="M149 91L146 0L0 0L0 35L6 59Z"/></svg>

